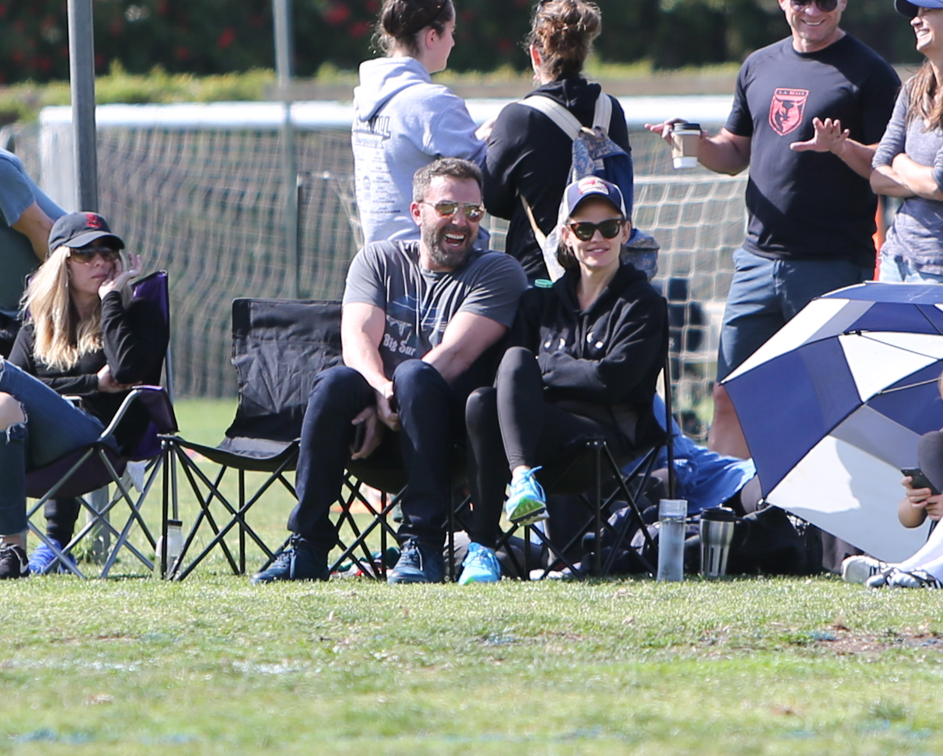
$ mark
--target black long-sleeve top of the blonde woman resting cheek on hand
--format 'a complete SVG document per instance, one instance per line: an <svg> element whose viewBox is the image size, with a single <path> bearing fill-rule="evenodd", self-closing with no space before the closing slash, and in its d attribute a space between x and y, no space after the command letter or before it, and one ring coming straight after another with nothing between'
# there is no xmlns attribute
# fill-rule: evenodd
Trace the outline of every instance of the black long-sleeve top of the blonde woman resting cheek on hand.
<svg viewBox="0 0 943 756"><path fill-rule="evenodd" d="M153 302L132 299L125 308L119 292L109 292L102 299L103 348L83 355L68 370L51 368L36 360L35 331L27 322L17 335L9 362L39 378L58 394L82 397L82 409L108 426L127 392L98 390L98 371L106 363L119 383L158 385L160 368L169 339L163 314ZM132 406L115 437L124 450L130 450L147 428L148 414L141 406Z"/></svg>

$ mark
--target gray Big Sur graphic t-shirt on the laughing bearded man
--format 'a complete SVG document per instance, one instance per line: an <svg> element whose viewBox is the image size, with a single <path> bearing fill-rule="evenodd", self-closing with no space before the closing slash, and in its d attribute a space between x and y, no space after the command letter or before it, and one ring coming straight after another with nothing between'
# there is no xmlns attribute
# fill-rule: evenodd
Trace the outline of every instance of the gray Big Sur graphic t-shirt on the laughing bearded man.
<svg viewBox="0 0 943 756"><path fill-rule="evenodd" d="M510 327L527 288L521 265L501 252L472 250L455 270L425 270L418 241L384 241L361 249L344 289L344 304L362 302L387 314L380 357L387 377L400 362L420 359L442 340L456 313L484 315Z"/></svg>

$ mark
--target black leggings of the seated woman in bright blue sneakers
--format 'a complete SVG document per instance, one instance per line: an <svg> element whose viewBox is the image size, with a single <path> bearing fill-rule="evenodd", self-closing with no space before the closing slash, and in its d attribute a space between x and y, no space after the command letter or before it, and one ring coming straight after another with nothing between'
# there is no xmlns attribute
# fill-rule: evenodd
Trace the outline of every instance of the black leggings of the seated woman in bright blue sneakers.
<svg viewBox="0 0 943 756"><path fill-rule="evenodd" d="M582 439L604 438L614 454L624 449L620 433L587 417L561 410L543 397L543 378L534 353L520 346L505 352L493 388L468 398L469 482L473 541L494 548L505 486L516 467L567 464Z"/></svg>

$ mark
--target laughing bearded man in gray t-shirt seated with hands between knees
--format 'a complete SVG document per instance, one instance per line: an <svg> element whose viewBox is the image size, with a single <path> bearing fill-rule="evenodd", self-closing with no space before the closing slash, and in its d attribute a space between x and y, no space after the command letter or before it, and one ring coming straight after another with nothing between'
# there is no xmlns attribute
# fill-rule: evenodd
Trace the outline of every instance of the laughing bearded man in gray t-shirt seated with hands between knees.
<svg viewBox="0 0 943 756"><path fill-rule="evenodd" d="M320 373L308 396L294 535L254 583L327 579L338 538L330 507L351 458L405 471L403 549L388 582L444 578L452 447L464 437L465 399L493 378L492 347L527 286L516 260L472 249L484 214L481 183L467 160L419 169L410 213L420 241L376 242L356 255L340 323L344 364Z"/></svg>

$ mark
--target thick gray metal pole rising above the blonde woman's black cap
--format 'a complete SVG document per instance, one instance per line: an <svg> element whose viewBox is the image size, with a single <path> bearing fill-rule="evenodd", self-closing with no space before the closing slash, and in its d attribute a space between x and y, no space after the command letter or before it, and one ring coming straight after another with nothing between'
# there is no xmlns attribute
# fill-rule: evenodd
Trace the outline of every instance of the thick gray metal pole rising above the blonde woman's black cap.
<svg viewBox="0 0 943 756"><path fill-rule="evenodd" d="M69 80L75 147L75 209L97 213L95 41L91 27L91 0L69 0Z"/></svg>

